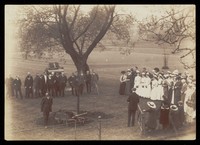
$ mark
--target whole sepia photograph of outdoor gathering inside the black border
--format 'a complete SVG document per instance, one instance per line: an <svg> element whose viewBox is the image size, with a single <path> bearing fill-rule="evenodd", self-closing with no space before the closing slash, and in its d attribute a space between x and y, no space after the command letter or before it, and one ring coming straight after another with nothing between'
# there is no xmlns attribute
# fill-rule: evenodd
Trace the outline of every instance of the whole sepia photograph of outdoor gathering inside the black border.
<svg viewBox="0 0 200 145"><path fill-rule="evenodd" d="M196 140L195 5L4 8L4 140Z"/></svg>

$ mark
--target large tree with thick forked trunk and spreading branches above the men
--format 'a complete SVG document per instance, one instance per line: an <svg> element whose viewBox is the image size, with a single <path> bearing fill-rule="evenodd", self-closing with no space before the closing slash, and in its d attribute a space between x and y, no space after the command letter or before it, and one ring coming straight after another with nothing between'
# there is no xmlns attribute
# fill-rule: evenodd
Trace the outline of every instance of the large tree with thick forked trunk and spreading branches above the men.
<svg viewBox="0 0 200 145"><path fill-rule="evenodd" d="M115 5L96 5L84 12L80 5L29 6L20 19L20 41L22 51L41 52L44 48L63 48L73 60L77 71L89 69L90 53L103 46L100 40L109 31L118 39L128 40L129 33L120 19ZM130 16L129 16L130 17ZM119 24L122 22L123 24ZM123 29L123 30L122 30Z"/></svg>

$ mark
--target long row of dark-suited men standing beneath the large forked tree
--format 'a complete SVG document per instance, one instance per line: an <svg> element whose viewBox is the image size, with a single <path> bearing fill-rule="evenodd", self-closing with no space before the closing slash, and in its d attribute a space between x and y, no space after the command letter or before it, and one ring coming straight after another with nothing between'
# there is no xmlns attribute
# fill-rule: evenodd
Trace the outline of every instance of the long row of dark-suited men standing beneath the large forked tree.
<svg viewBox="0 0 200 145"><path fill-rule="evenodd" d="M97 89L97 82L99 76L93 70L78 74L72 73L72 76L67 78L64 72L44 72L43 74L37 73L33 78L30 72L24 80L24 94L22 93L22 81L17 75L13 78L11 75L6 79L7 96L15 96L16 98L37 98L45 96L48 93L52 97L64 97L67 83L72 90L72 95L81 95L83 93L84 86L87 88L87 93L91 92L92 86Z"/></svg>

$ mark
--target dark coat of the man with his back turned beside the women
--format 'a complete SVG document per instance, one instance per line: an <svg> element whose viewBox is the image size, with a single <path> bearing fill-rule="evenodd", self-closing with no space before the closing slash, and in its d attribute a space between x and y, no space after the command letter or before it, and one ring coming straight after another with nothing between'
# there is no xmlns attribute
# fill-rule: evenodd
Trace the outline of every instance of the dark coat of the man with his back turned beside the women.
<svg viewBox="0 0 200 145"><path fill-rule="evenodd" d="M129 95L127 102L128 104L128 109L129 110L137 110L137 104L139 103L139 96L133 92Z"/></svg>

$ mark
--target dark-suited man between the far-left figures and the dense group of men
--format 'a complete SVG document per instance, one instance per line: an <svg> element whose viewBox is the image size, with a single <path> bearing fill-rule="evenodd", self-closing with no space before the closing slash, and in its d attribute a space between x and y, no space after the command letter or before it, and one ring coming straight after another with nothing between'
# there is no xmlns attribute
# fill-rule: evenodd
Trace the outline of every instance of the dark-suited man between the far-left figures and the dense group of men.
<svg viewBox="0 0 200 145"><path fill-rule="evenodd" d="M28 72L28 75L25 78L24 81L24 87L25 87L25 97L30 98L30 94L33 98L33 77L31 76L30 72Z"/></svg>

